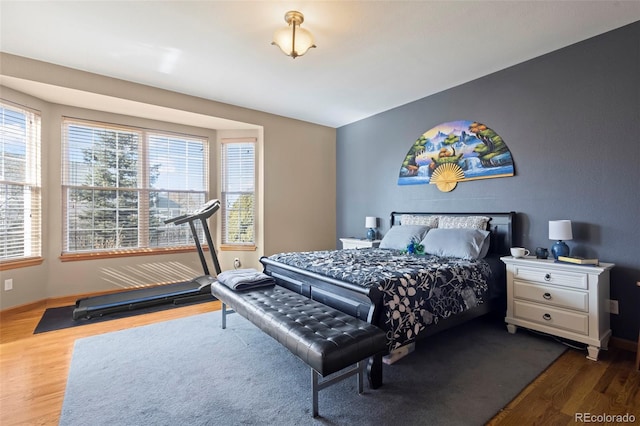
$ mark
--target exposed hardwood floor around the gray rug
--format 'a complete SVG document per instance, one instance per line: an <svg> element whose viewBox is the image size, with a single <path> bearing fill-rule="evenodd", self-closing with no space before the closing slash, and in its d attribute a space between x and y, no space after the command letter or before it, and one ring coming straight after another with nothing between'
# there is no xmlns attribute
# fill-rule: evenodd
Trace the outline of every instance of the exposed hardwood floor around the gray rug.
<svg viewBox="0 0 640 426"><path fill-rule="evenodd" d="M42 303L0 317L1 425L58 424L76 339L220 309L219 302L208 302L33 334L45 308L73 301L58 300L48 306ZM569 350L489 424L581 424L576 416L585 419L588 415L634 416L635 424L640 424L640 372L636 371L633 352L612 348L601 352L601 359L593 362L585 358L585 353ZM609 419L614 421L606 424L630 424L615 421L616 417Z"/></svg>

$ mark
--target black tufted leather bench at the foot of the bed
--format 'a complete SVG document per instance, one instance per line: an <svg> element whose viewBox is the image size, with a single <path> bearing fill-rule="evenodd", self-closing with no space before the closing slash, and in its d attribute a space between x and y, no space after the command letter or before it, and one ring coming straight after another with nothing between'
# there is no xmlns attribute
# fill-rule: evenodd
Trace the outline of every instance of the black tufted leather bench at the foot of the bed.
<svg viewBox="0 0 640 426"><path fill-rule="evenodd" d="M363 393L367 359L386 350L385 334L374 325L277 285L235 291L216 281L211 293L222 302L222 328L237 312L311 367L314 417L318 391L357 375Z"/></svg>

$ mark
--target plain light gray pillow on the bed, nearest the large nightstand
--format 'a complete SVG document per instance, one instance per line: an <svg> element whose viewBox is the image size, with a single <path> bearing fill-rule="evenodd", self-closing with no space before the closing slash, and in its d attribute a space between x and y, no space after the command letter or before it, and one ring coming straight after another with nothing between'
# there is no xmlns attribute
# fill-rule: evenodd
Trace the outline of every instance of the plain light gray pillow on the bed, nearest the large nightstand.
<svg viewBox="0 0 640 426"><path fill-rule="evenodd" d="M489 231L469 228L430 230L421 244L424 252L436 256L482 259L489 250Z"/></svg>

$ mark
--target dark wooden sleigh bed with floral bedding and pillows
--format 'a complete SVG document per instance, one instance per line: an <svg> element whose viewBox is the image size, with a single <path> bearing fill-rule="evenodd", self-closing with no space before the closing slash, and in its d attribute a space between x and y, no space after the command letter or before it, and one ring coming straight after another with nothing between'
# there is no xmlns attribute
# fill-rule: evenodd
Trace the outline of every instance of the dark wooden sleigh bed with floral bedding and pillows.
<svg viewBox="0 0 640 426"><path fill-rule="evenodd" d="M261 262L279 285L383 329L392 353L505 309L499 257L513 245L514 219L514 212L393 212L380 248L279 253ZM426 253L407 253L411 242ZM369 365L373 387L382 384L382 355Z"/></svg>

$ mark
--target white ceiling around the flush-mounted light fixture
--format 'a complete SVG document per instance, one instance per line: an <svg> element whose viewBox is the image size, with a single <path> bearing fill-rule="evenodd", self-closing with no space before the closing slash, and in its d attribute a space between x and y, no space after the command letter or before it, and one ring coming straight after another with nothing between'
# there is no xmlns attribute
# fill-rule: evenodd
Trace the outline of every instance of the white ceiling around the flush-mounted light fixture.
<svg viewBox="0 0 640 426"><path fill-rule="evenodd" d="M288 10L318 46L295 60L270 44ZM638 20L638 0L0 0L0 50L339 127Z"/></svg>

